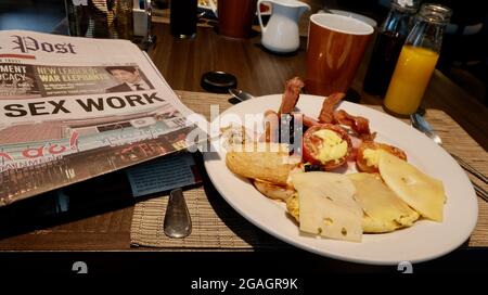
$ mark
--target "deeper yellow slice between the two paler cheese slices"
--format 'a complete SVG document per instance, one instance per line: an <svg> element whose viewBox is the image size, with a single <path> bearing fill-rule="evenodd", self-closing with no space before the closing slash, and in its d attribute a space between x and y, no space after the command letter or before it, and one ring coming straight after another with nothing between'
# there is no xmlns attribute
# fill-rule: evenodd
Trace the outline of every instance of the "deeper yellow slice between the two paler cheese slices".
<svg viewBox="0 0 488 295"><path fill-rule="evenodd" d="M347 177L356 187L356 201L367 214L362 223L364 232L389 232L411 227L419 219L419 214L401 201L378 175L350 174Z"/></svg>

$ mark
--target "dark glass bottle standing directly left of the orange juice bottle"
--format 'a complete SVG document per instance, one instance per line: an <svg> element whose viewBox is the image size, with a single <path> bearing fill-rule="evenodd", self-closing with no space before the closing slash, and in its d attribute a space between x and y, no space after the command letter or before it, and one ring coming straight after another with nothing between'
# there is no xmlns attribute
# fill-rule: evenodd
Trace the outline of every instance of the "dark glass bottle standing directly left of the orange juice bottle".
<svg viewBox="0 0 488 295"><path fill-rule="evenodd" d="M373 53L364 77L363 90L384 97L388 89L401 47L410 31L412 16L419 3L416 0L393 0L390 11L378 28Z"/></svg>

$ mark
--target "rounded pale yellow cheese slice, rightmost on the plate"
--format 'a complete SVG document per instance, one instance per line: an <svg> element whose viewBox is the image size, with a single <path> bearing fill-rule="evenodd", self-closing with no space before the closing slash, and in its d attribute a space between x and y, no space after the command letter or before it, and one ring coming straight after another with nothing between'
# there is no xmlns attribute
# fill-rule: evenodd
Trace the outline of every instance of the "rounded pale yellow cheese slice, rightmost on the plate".
<svg viewBox="0 0 488 295"><path fill-rule="evenodd" d="M385 152L380 155L378 168L388 188L410 207L427 219L442 221L446 193L440 180Z"/></svg>

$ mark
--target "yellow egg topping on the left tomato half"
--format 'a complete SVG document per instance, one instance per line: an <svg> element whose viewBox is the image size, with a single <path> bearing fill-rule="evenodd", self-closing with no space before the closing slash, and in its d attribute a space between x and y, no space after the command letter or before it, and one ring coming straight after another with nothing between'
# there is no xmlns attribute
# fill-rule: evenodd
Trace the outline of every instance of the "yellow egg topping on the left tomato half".
<svg viewBox="0 0 488 295"><path fill-rule="evenodd" d="M313 136L322 139L322 148L319 150L318 159L321 163L334 161L337 163L347 154L347 142L343 140L336 132L329 129L321 129Z"/></svg>

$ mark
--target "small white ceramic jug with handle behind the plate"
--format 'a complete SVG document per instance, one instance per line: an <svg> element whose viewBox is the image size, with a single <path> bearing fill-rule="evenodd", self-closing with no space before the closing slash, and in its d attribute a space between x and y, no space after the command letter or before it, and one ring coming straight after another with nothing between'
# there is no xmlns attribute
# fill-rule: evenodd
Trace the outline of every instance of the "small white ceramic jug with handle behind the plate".
<svg viewBox="0 0 488 295"><path fill-rule="evenodd" d="M266 26L262 25L259 10L262 2L269 2L272 5L271 17ZM261 26L261 44L278 53L297 50L300 46L298 21L307 10L310 10L307 3L296 0L259 0L257 13Z"/></svg>

